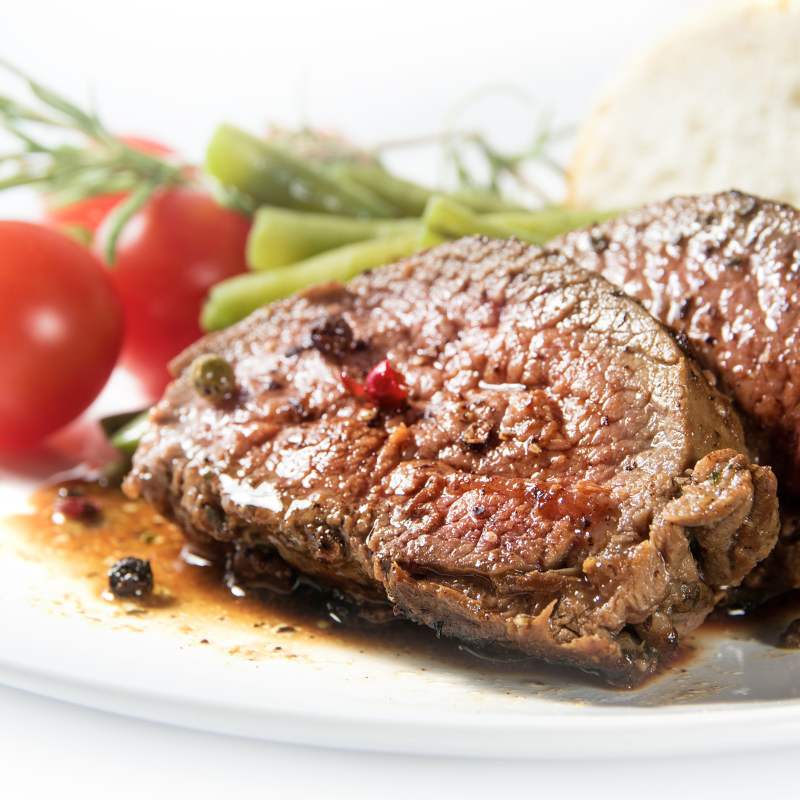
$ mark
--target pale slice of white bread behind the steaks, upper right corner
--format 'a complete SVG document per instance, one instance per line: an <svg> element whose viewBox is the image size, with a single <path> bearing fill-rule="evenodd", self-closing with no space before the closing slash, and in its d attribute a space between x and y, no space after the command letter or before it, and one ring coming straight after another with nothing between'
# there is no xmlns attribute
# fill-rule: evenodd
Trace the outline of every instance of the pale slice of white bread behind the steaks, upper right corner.
<svg viewBox="0 0 800 800"><path fill-rule="evenodd" d="M673 31L603 92L570 169L586 208L730 188L800 205L800 0L725 2Z"/></svg>

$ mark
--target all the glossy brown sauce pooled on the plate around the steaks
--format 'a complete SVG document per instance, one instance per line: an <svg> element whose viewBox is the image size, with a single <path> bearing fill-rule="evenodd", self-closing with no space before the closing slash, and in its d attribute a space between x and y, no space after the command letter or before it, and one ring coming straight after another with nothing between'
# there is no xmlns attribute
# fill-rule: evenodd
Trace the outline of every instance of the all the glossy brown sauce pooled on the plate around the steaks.
<svg viewBox="0 0 800 800"><path fill-rule="evenodd" d="M77 487L97 504L96 518L78 521L54 514L59 491L70 487ZM288 595L248 592L236 596L224 584L220 565L188 563L180 530L144 501L131 501L118 489L96 483L52 486L37 492L31 505L33 513L11 518L12 528L21 534L29 557L51 563L84 589L86 607L81 613L90 619L113 624L123 620L128 628L177 635L182 646L210 646L227 656L251 661L267 655L302 657L304 648L324 643L354 653L393 653L407 659L408 668L420 670L428 668L422 666L427 662L431 668L513 676L532 680L533 685L557 678L588 688L613 689L600 677L537 659L474 653L455 640L439 640L428 628L407 621L364 623L361 627L339 624L328 611L327 598L308 587ZM154 590L149 597L124 599L110 593L108 570L127 556L150 562ZM766 635L776 641L780 630L794 619L792 614L800 616L800 593L794 605L786 599L780 604L781 614L766 611L731 617L719 613L706 628L738 638L763 637L764 631L769 631ZM685 673L696 650L695 639L681 648L662 674Z"/></svg>

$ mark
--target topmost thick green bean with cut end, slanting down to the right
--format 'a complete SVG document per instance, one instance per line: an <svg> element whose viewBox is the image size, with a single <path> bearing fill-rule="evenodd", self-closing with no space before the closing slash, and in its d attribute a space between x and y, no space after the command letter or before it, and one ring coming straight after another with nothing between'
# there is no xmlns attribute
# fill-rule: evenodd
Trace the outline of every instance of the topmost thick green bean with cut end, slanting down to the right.
<svg viewBox="0 0 800 800"><path fill-rule="evenodd" d="M217 128L206 153L206 169L259 204L354 217L397 216L376 195L353 192L273 142L232 125Z"/></svg>

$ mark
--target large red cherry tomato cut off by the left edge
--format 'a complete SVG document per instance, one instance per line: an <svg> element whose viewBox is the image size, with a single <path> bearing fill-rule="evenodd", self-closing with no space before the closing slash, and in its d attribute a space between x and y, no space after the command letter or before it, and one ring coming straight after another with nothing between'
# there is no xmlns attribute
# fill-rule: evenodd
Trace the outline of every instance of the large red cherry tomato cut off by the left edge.
<svg viewBox="0 0 800 800"><path fill-rule="evenodd" d="M0 449L34 444L103 388L122 341L109 276L81 245L0 222Z"/></svg>

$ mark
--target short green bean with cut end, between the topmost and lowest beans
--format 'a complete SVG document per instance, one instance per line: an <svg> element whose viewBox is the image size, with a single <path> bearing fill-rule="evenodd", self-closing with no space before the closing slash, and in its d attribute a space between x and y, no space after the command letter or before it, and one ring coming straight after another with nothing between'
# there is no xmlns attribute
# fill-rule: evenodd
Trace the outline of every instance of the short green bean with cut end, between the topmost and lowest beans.
<svg viewBox="0 0 800 800"><path fill-rule="evenodd" d="M418 228L415 219L361 220L263 206L247 240L247 263L255 270L278 269L335 247Z"/></svg>

